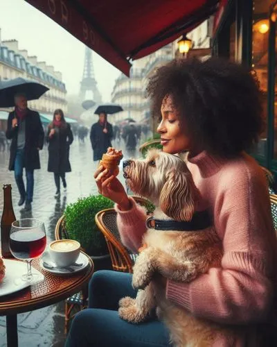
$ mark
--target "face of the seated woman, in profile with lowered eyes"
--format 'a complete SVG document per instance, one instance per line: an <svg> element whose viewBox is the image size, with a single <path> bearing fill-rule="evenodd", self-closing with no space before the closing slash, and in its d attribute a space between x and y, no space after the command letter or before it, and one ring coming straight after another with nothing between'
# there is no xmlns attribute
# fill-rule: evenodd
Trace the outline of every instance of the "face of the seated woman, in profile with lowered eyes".
<svg viewBox="0 0 277 347"><path fill-rule="evenodd" d="M186 134L184 121L181 124L179 113L174 108L170 96L165 96L161 104L161 123L157 133L161 134L163 152L176 154L191 149L192 143Z"/></svg>

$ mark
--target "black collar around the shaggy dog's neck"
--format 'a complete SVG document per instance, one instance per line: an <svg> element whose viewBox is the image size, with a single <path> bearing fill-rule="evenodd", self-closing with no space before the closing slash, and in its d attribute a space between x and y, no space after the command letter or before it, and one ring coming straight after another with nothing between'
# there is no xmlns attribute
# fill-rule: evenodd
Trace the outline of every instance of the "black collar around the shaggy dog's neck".
<svg viewBox="0 0 277 347"><path fill-rule="evenodd" d="M146 226L156 230L197 231L206 229L212 224L208 210L195 212L191 221L163 221L154 217L146 219Z"/></svg>

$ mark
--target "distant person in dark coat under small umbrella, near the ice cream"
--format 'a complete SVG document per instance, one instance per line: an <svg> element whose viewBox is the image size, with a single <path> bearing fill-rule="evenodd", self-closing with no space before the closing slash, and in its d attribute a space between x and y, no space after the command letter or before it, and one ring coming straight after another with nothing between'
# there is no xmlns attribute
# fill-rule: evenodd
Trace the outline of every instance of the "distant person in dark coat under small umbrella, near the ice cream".
<svg viewBox="0 0 277 347"><path fill-rule="evenodd" d="M102 159L102 155L111 147L113 136L113 128L107 122L107 115L104 112L100 113L98 122L91 126L90 139L94 161Z"/></svg>

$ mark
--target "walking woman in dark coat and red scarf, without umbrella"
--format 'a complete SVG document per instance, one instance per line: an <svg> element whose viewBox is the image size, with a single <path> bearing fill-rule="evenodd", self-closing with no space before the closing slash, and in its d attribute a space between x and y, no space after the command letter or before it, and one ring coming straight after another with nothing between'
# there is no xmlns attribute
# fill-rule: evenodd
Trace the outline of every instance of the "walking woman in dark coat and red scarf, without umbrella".
<svg viewBox="0 0 277 347"><path fill-rule="evenodd" d="M54 173L56 186L55 197L60 196L60 178L66 191L65 173L71 171L69 162L69 147L73 142L71 126L64 119L64 112L58 108L53 115L53 121L48 125L48 172Z"/></svg>

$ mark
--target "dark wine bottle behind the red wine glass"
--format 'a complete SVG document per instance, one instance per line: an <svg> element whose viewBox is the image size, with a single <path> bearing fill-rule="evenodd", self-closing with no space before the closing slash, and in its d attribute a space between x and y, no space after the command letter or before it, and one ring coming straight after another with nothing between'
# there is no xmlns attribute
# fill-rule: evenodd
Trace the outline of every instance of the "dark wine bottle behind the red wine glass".
<svg viewBox="0 0 277 347"><path fill-rule="evenodd" d="M15 212L12 208L12 186L3 185L4 191L4 208L1 218L1 253L2 257L12 257L10 253L10 228L12 222L16 220Z"/></svg>

